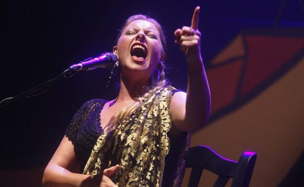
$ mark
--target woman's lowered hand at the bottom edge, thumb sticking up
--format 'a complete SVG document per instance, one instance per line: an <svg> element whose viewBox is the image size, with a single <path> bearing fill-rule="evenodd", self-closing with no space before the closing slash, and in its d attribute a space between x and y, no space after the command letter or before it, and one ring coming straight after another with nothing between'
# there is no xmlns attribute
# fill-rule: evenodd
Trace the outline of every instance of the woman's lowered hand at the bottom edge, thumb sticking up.
<svg viewBox="0 0 304 187"><path fill-rule="evenodd" d="M109 178L119 169L119 165L103 170L103 174L91 175L81 185L81 187L117 187Z"/></svg>

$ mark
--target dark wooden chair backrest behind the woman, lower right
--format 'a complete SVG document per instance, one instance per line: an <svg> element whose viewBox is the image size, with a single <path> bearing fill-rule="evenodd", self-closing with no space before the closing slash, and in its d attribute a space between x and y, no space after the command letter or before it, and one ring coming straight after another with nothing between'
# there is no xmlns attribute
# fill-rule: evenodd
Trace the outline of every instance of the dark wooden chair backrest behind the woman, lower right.
<svg viewBox="0 0 304 187"><path fill-rule="evenodd" d="M192 168L188 187L198 186L203 169L219 176L213 187L224 187L229 178L233 178L231 187L248 187L256 157L256 153L244 152L236 162L220 156L207 146L192 147L186 156L186 168Z"/></svg>

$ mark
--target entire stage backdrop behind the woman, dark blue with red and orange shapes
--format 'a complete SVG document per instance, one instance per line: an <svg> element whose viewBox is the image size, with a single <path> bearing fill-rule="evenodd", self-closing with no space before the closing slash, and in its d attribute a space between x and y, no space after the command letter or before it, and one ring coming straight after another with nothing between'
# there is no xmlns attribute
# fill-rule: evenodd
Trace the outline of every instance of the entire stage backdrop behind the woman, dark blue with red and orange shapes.
<svg viewBox="0 0 304 187"><path fill-rule="evenodd" d="M304 4L244 1L6 1L0 100L46 81L69 65L111 51L124 19L156 17L168 35L168 77L186 88L176 28L201 6L202 53L212 97L206 128L191 146L229 159L258 154L250 187L300 187L304 163ZM4 12L4 11L3 11ZM58 82L43 96L0 109L1 187L39 187L64 130L85 101L107 97L108 70ZM301 177L300 177L301 176ZM183 182L187 186L189 170ZM203 172L200 187L215 175ZM229 183L228 183L229 186Z"/></svg>

